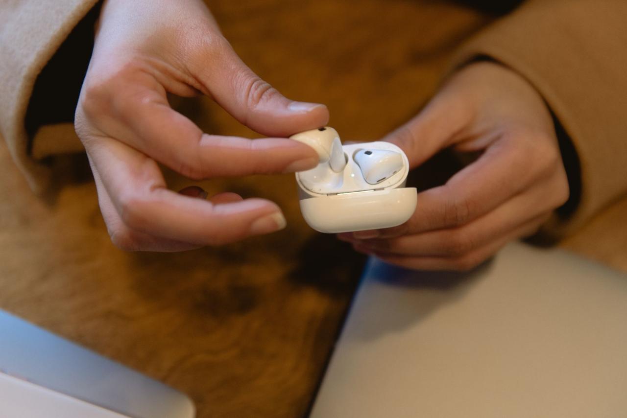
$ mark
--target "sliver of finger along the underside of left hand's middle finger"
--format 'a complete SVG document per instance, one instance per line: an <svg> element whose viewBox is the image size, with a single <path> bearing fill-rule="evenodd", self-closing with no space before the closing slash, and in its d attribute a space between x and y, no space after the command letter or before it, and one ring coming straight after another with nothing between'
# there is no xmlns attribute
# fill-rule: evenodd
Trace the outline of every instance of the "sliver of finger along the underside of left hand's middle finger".
<svg viewBox="0 0 627 418"><path fill-rule="evenodd" d="M93 178L96 184L96 191L98 193L98 206L100 206L100 212L105 219L105 225L111 238L111 241L115 246L125 251L159 251L163 253L173 253L177 251L188 251L190 249L196 249L200 246L197 244L184 243L182 241L176 241L174 239L167 239L162 237L156 237L151 234L140 233L134 231L125 226L119 214L113 206L110 196L108 196L107 189L105 189L98 174L98 170L95 165L92 165Z"/></svg>

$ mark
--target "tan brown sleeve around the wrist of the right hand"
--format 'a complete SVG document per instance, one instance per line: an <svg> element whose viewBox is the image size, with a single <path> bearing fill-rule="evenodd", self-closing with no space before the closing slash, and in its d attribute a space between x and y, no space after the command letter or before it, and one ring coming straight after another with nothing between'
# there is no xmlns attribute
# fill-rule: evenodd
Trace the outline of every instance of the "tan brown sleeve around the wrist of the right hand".
<svg viewBox="0 0 627 418"><path fill-rule="evenodd" d="M481 57L527 78L576 149L579 202L545 232L563 236L626 194L627 1L527 1L466 43L453 65Z"/></svg>

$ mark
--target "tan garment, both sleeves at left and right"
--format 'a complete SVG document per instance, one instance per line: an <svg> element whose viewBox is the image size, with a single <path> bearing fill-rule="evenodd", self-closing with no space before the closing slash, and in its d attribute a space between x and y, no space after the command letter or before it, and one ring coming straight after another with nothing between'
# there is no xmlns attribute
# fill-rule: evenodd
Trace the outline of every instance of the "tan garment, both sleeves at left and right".
<svg viewBox="0 0 627 418"><path fill-rule="evenodd" d="M96 3L0 3L0 133L35 190L48 179L38 160L82 147L67 122L45 123L29 135L25 117L33 86ZM487 56L518 71L572 140L581 165L581 199L567 219L551 221L556 234L580 226L627 193L626 27L623 0L529 0L470 39L453 60L459 66ZM573 179L579 182L579 172Z"/></svg>

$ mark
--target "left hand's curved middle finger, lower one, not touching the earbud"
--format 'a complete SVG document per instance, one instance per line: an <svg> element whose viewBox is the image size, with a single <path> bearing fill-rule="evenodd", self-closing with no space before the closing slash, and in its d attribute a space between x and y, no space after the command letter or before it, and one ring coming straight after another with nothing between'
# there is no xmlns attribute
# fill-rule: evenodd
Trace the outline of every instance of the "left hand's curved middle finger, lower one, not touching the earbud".
<svg viewBox="0 0 627 418"><path fill-rule="evenodd" d="M212 204L166 189L154 161L101 138L90 157L126 227L197 245L226 244L285 226L277 205L263 199Z"/></svg>

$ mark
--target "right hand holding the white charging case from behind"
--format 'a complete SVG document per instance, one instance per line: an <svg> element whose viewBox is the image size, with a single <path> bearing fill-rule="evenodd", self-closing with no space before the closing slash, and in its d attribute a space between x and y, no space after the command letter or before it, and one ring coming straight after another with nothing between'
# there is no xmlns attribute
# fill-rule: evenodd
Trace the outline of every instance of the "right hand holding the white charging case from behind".
<svg viewBox="0 0 627 418"><path fill-rule="evenodd" d="M413 269L466 270L529 236L569 187L551 113L521 76L497 63L454 75L417 117L388 135L416 167L446 147L482 152L445 185L418 194L401 226L340 234L357 251Z"/></svg>

